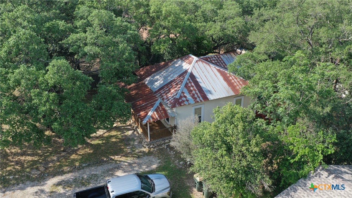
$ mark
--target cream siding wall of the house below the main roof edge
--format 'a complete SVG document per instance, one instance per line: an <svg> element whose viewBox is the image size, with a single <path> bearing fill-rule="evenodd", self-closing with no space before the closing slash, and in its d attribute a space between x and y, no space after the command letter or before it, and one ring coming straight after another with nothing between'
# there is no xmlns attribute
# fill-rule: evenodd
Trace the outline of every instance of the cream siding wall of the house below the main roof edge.
<svg viewBox="0 0 352 198"><path fill-rule="evenodd" d="M199 102L199 103L194 103L194 104L189 104L189 105L185 105L182 107L177 107L176 108L176 115L177 115L177 122L182 120L182 119L186 119L189 116L193 116L193 107L200 105L200 104L204 104L204 121L207 122L213 122L214 119L212 117L210 117L210 115L214 115L213 114L213 109L216 107L222 107L225 106L225 104L227 104L228 102L234 102L234 98L235 97L239 97L239 96L243 96L242 95L234 95L234 96L228 96L228 97L224 97L224 98L219 98L219 99L215 99L215 100L209 100L209 101L205 101L205 102ZM251 101L250 97L244 96L244 102L243 102L243 107L248 107L249 103ZM171 121L171 120L170 120ZM174 126L174 125L172 125Z"/></svg>

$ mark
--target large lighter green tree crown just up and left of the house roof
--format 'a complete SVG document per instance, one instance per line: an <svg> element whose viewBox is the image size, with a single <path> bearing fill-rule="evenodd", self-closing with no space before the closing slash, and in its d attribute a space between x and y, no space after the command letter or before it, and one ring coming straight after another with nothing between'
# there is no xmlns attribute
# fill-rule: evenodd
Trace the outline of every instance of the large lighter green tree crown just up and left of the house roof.
<svg viewBox="0 0 352 198"><path fill-rule="evenodd" d="M102 83L133 82L132 71L137 69L133 48L138 47L140 42L133 27L110 11L84 5L75 12L75 16L79 32L71 34L63 42L76 54L76 58L85 58L87 62L99 59Z"/></svg>

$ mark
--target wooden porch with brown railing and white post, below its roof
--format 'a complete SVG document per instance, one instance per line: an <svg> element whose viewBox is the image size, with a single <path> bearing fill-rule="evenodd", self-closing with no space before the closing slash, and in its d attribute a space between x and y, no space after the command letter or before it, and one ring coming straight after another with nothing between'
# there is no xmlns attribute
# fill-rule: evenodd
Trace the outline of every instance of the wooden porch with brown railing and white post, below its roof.
<svg viewBox="0 0 352 198"><path fill-rule="evenodd" d="M132 117L139 129L142 131L144 137L148 141L153 141L161 138L171 136L175 132L176 125L166 127L161 120L142 123L138 116L132 111Z"/></svg>

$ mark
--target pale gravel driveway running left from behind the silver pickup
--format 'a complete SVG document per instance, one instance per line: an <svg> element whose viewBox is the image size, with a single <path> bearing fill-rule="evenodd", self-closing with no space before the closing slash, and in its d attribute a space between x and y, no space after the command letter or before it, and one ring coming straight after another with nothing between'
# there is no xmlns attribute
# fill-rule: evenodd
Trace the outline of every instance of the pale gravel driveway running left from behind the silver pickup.
<svg viewBox="0 0 352 198"><path fill-rule="evenodd" d="M141 157L120 163L87 167L73 173L27 182L1 190L1 197L72 197L74 192L103 185L107 179L121 175L153 170L159 166L156 157Z"/></svg>

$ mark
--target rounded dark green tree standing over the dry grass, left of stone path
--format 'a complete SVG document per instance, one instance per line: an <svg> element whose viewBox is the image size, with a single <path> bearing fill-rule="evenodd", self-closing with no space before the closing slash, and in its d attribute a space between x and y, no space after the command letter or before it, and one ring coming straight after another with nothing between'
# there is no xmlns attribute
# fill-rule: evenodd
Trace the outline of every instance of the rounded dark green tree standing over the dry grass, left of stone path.
<svg viewBox="0 0 352 198"><path fill-rule="evenodd" d="M52 60L46 69L39 89L31 91L38 109L32 117L43 115L42 124L51 126L70 146L83 144L84 137L95 132L90 120L93 109L83 102L92 79L71 69L66 60Z"/></svg>

